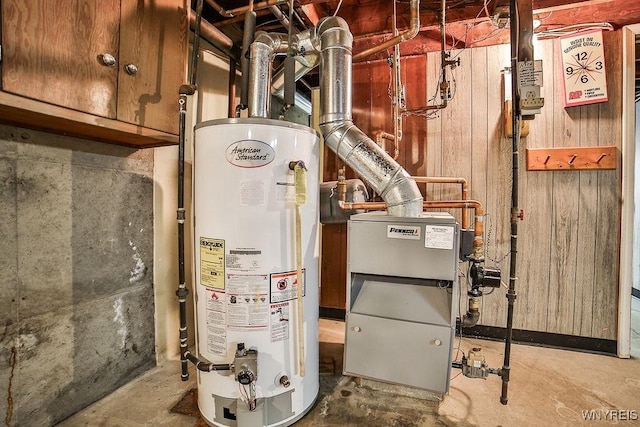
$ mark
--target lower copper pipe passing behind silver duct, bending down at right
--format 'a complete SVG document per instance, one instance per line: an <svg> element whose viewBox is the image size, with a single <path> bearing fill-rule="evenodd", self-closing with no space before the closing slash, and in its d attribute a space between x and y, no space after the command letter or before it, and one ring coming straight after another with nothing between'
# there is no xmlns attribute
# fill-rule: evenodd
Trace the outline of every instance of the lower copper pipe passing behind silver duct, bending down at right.
<svg viewBox="0 0 640 427"><path fill-rule="evenodd" d="M384 210L387 208L385 202L338 202L345 210ZM473 259L484 260L484 207L477 200L428 200L422 202L423 209L473 209L475 218L473 222Z"/></svg>

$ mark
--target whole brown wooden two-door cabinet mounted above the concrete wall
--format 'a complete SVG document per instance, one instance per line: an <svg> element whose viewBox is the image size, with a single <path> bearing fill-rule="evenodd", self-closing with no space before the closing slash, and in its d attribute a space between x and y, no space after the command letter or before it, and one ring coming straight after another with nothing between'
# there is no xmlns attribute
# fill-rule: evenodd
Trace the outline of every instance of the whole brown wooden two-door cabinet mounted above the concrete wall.
<svg viewBox="0 0 640 427"><path fill-rule="evenodd" d="M3 120L126 145L177 142L185 0L2 0Z"/></svg>

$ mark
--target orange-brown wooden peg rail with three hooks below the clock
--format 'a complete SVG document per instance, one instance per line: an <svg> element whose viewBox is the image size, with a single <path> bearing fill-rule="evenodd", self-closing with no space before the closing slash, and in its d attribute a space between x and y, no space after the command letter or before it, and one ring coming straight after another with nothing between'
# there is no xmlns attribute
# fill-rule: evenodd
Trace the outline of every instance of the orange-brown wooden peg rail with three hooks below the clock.
<svg viewBox="0 0 640 427"><path fill-rule="evenodd" d="M528 171L616 169L616 147L527 149Z"/></svg>

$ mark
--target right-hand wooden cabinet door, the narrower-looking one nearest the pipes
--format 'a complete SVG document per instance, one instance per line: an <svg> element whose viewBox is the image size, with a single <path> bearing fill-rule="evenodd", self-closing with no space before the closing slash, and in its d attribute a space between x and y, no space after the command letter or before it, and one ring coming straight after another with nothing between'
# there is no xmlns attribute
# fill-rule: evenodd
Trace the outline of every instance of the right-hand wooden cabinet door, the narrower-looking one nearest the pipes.
<svg viewBox="0 0 640 427"><path fill-rule="evenodd" d="M177 134L189 41L185 1L122 0L121 8L118 120Z"/></svg>

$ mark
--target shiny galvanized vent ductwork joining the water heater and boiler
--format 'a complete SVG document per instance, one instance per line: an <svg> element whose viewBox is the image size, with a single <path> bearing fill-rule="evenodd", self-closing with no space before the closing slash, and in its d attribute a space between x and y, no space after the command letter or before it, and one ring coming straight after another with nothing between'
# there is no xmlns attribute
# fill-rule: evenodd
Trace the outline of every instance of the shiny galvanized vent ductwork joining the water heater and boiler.
<svg viewBox="0 0 640 427"><path fill-rule="evenodd" d="M389 215L418 217L422 214L422 194L406 170L352 120L351 86L353 36L340 17L321 20L292 37L292 46L282 35L259 33L251 46L249 117L269 117L272 59L291 47L306 62L311 52L320 54L320 129L324 141L387 204ZM309 61L315 66L317 61Z"/></svg>

